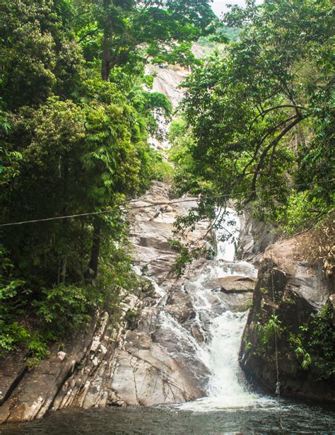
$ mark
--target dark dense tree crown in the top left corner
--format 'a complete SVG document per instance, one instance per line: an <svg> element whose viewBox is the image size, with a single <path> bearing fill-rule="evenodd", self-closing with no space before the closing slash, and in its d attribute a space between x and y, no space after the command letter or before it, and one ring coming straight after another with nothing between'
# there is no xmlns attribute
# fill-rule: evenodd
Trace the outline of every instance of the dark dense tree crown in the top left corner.
<svg viewBox="0 0 335 435"><path fill-rule="evenodd" d="M83 58L63 25L61 4L0 1L0 89L7 110L37 105L52 93L71 95Z"/></svg>

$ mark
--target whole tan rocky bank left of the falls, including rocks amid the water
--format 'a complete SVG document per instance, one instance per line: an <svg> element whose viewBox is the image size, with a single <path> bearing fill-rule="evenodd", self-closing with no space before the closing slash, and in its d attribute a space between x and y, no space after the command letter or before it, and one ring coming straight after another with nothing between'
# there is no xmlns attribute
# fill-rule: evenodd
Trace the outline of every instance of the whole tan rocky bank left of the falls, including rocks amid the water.
<svg viewBox="0 0 335 435"><path fill-rule="evenodd" d="M187 214L195 203L151 207L169 202L169 195L169 186L155 182L130 212L134 267L143 288L137 296L124 295L117 321L100 313L88 330L54 344L47 359L30 369L22 354L0 361L0 422L32 420L66 407L156 405L206 394L209 372L200 354L210 338L211 313L245 306L254 279L245 279L243 263L227 279L232 265L204 258L177 279L169 238L177 214ZM198 224L188 240L204 238L207 226ZM193 295L202 288L209 306L199 315Z"/></svg>

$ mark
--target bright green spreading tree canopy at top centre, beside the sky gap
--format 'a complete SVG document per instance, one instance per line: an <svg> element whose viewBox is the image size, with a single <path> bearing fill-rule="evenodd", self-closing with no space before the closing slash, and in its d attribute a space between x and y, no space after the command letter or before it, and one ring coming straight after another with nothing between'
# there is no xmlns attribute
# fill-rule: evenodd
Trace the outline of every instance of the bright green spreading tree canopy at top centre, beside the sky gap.
<svg viewBox="0 0 335 435"><path fill-rule="evenodd" d="M149 55L158 62L194 61L191 45L213 30L209 0L83 0L74 21L87 59L99 52L102 79L115 66L129 66ZM84 11L84 12L83 12ZM92 50L92 47L95 47ZM172 59L171 53L178 54ZM182 57L184 54L184 59Z"/></svg>

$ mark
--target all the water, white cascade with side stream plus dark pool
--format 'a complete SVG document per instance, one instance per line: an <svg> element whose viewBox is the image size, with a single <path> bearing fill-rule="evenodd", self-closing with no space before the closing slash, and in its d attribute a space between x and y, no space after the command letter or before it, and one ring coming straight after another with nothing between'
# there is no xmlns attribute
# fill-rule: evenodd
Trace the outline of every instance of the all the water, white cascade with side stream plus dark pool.
<svg viewBox="0 0 335 435"><path fill-rule="evenodd" d="M238 218L233 211L231 218ZM199 344L172 316L161 313L162 334L175 337L171 354L184 361L196 358L208 369L205 398L177 405L62 410L41 421L11 425L0 434L335 434L335 413L327 406L260 395L250 390L237 361L247 312L231 311L211 279L242 275L256 277L246 262L234 261L233 243L220 242L217 258L188 284L206 340ZM166 294L155 284L164 306ZM186 364L186 363L185 363Z"/></svg>

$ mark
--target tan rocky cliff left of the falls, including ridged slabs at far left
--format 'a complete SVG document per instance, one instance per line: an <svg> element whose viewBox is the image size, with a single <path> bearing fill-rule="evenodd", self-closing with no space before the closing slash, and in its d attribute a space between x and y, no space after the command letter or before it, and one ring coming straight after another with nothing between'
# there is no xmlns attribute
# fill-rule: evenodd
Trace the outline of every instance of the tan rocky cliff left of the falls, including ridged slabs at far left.
<svg viewBox="0 0 335 435"><path fill-rule="evenodd" d="M203 394L206 369L196 359L172 358L168 349L175 337L169 337L160 316L160 301L167 297L167 311L178 321L190 322L194 316L187 294L179 291L181 284L172 292L157 284L173 286L171 267L177 254L168 238L175 216L194 205L146 208L151 202L168 201L169 187L156 182L136 203L143 209L130 213L134 260L151 281L143 279L137 296L124 295L117 321L100 313L88 330L65 344L54 344L49 357L30 369L20 353L0 361L0 422L31 420L49 409L153 405ZM199 226L192 237L201 236L205 228Z"/></svg>

